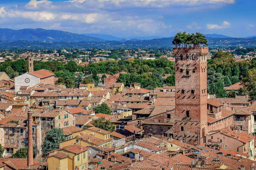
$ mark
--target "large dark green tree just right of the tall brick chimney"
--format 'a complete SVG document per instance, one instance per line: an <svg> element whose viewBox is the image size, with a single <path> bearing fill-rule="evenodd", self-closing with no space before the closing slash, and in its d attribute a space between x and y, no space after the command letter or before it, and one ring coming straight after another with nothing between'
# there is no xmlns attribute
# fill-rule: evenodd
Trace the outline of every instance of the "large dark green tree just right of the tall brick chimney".
<svg viewBox="0 0 256 170"><path fill-rule="evenodd" d="M61 128L53 128L48 129L46 132L46 136L44 138L44 142L42 144L42 156L44 158L47 157L47 152L59 148L59 143L66 139L63 129Z"/></svg>

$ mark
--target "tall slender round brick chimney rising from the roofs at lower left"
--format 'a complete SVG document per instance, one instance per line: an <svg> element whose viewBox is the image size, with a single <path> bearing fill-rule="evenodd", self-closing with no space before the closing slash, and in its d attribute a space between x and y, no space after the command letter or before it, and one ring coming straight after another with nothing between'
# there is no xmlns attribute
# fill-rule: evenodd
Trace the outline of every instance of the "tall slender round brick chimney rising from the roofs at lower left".
<svg viewBox="0 0 256 170"><path fill-rule="evenodd" d="M34 164L33 161L33 141L32 141L32 111L28 111L28 163L27 166Z"/></svg>

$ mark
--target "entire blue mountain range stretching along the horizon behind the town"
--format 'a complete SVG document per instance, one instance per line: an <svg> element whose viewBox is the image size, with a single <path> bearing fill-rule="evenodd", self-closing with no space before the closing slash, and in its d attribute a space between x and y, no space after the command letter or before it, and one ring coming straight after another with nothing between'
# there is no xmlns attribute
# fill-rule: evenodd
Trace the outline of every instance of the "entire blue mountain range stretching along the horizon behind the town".
<svg viewBox="0 0 256 170"><path fill-rule="evenodd" d="M256 36L231 38L220 34L205 34L208 46L225 47L256 45ZM255 38L254 38L255 37ZM118 38L106 34L74 34L57 30L45 29L1 29L0 48L133 48L133 47L174 47L173 37L149 36ZM72 42L72 43L71 43Z"/></svg>

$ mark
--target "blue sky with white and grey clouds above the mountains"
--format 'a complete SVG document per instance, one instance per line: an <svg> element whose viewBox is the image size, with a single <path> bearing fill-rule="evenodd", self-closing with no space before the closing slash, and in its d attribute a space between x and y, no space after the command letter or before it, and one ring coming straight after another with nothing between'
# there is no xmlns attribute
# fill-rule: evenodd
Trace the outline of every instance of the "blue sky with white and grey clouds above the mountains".
<svg viewBox="0 0 256 170"><path fill-rule="evenodd" d="M256 35L255 0L1 0L0 28L44 28L116 37L179 31Z"/></svg>

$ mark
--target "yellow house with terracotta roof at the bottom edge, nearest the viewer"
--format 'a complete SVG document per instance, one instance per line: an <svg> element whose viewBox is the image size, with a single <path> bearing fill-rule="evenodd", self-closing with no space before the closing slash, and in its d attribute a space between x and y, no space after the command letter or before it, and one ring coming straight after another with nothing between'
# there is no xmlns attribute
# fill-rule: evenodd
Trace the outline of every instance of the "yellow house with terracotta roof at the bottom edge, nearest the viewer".
<svg viewBox="0 0 256 170"><path fill-rule="evenodd" d="M87 169L88 157L87 147L81 145L70 145L48 152L47 158L49 170L75 170Z"/></svg>

